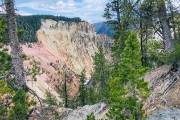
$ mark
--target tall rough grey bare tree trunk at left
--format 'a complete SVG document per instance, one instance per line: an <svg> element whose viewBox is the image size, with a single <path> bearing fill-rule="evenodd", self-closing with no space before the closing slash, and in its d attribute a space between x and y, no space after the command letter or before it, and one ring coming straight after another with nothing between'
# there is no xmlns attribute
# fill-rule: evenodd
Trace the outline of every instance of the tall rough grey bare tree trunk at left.
<svg viewBox="0 0 180 120"><path fill-rule="evenodd" d="M19 87L25 88L26 82L25 82L24 66L22 60L22 51L20 48L18 35L17 35L17 23L16 23L15 9L14 9L14 0L5 0L5 6L6 6L7 20L8 20L12 64L15 73L14 83L17 88Z"/></svg>

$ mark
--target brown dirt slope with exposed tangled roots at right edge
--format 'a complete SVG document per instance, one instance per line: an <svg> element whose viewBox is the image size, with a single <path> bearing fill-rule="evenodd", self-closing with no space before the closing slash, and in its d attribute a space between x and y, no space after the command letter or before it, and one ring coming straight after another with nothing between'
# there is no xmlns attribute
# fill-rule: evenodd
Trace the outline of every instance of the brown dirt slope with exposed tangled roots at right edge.
<svg viewBox="0 0 180 120"><path fill-rule="evenodd" d="M180 69L164 65L147 73L145 80L151 89L144 104L148 115L165 109L180 109Z"/></svg>

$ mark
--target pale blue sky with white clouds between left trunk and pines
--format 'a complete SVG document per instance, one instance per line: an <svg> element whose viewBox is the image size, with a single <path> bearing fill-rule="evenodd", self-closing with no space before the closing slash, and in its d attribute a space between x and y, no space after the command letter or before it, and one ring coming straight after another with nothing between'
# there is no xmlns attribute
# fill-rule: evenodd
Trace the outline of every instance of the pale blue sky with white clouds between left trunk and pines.
<svg viewBox="0 0 180 120"><path fill-rule="evenodd" d="M102 17L108 0L15 0L21 15L51 14L81 17L91 23L105 21Z"/></svg>

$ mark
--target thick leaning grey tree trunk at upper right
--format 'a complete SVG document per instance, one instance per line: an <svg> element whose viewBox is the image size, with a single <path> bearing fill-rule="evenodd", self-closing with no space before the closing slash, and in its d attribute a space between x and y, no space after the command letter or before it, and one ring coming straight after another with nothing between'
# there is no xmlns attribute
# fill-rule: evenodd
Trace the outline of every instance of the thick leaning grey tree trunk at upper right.
<svg viewBox="0 0 180 120"><path fill-rule="evenodd" d="M172 51L174 49L174 43L172 41L172 35L167 19L166 14L166 6L164 0L157 0L157 7L158 7L158 15L159 15L159 21L161 24L162 32L163 32L163 39L165 43L165 50L166 51Z"/></svg>

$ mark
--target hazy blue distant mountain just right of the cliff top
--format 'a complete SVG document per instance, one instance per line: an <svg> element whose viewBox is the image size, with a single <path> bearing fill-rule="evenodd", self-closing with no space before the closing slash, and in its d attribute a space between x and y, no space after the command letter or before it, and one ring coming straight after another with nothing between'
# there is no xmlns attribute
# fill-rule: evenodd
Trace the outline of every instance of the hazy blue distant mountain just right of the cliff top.
<svg viewBox="0 0 180 120"><path fill-rule="evenodd" d="M112 36L113 34L111 26L104 22L94 23L94 28L97 34L106 34L108 36Z"/></svg>

